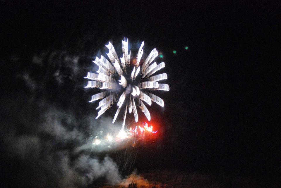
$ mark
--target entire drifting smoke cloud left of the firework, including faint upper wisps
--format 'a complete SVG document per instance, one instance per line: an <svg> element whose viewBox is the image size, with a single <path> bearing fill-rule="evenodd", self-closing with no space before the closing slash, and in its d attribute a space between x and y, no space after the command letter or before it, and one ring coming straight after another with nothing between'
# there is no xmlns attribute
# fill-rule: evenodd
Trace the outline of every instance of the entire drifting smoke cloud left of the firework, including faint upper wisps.
<svg viewBox="0 0 281 188"><path fill-rule="evenodd" d="M90 137L118 127L111 125L112 118L95 120L95 108L88 104L83 77L92 69L91 58L67 51L16 57L1 62L1 68L13 72L0 101L8 185L87 187L100 178L111 185L120 182L116 162L91 150ZM6 66L9 62L14 66ZM16 68L23 64L27 68Z"/></svg>

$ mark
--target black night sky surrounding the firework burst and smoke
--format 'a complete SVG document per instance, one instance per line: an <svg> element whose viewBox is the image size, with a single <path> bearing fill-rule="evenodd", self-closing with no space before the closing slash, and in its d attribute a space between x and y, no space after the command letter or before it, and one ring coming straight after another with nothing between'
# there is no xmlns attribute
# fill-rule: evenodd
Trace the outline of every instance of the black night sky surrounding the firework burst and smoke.
<svg viewBox="0 0 281 188"><path fill-rule="evenodd" d="M31 135L53 143L57 138L38 128L49 111L59 111L62 119L74 117L77 123L61 120L67 130L91 131L85 119L97 111L87 103L91 92L83 88L83 76L94 57L105 53L104 44L111 41L118 51L124 37L133 53L144 41L146 53L156 47L164 54L170 86L161 93L165 108L151 108L162 126L161 138L142 148L146 152L137 156L138 170L176 168L277 180L280 4L15 1L0 6L0 146L6 182L18 185L22 180L16 177L43 181L30 164L41 165L48 153L38 149L35 159L26 159L38 150L19 154L15 148L21 144L11 140ZM73 144L58 142L50 148L69 151Z"/></svg>

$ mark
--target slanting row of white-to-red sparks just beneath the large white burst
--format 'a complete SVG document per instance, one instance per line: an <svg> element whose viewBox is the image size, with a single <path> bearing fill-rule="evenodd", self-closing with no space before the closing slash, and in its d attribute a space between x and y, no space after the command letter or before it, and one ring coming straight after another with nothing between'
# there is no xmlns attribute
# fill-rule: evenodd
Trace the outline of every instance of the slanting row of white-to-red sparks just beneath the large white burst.
<svg viewBox="0 0 281 188"><path fill-rule="evenodd" d="M138 125L130 129L120 130L116 135L107 133L102 138L98 136L93 137L92 145L99 146L101 144L109 144L110 147L110 145L114 145L119 141L135 139L137 135L146 136L147 134L152 135L155 133L157 133L157 130L153 131L153 126L144 123L143 126Z"/></svg>

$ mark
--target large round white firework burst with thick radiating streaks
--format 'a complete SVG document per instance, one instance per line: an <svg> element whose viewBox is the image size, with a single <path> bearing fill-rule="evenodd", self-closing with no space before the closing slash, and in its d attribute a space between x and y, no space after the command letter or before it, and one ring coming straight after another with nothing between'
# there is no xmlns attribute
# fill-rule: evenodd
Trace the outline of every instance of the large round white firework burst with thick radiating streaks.
<svg viewBox="0 0 281 188"><path fill-rule="evenodd" d="M100 108L96 119L117 102L117 111L112 123L115 122L122 109L124 115L121 131L124 130L127 111L129 113L133 111L135 121L138 122L136 104L148 121L150 121L150 113L145 103L151 106L151 103L155 102L159 106L164 107L164 101L150 92L153 90L170 90L168 84L159 83L167 79L166 73L154 75L154 73L165 67L164 62L159 64L156 62L152 63L158 56L158 51L153 49L147 58L141 61L144 46L144 42L142 42L136 59L131 61L131 51L128 51L128 39L125 38L124 41L122 41L122 56L119 56L121 58L117 56L111 42L105 46L109 49L107 53L109 61L104 56L100 58L96 57L93 63L98 66L98 70L96 70L95 73L88 73L87 76L84 77L85 79L91 80L88 81L85 88L106 89L104 92L98 92L92 95L89 101L93 102L102 99L96 108ZM150 127L146 126L145 129L150 129ZM140 130L143 132L142 129ZM152 132L152 130L150 132Z"/></svg>

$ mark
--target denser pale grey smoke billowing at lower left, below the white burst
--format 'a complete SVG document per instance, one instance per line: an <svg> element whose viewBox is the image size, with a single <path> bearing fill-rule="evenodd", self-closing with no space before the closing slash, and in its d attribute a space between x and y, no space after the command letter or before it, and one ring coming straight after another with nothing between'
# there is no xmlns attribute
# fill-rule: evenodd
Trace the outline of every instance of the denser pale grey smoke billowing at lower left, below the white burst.
<svg viewBox="0 0 281 188"><path fill-rule="evenodd" d="M43 123L26 134L18 135L11 122L6 122L8 132L1 130L9 154L35 172L29 178L39 180L36 186L85 187L101 177L114 185L121 180L118 166L110 157L99 160L88 148L77 154L76 147L69 146L87 142L87 134L75 127L73 115L51 108L40 118ZM22 126L29 127L25 122Z"/></svg>

